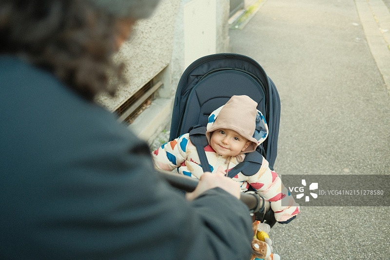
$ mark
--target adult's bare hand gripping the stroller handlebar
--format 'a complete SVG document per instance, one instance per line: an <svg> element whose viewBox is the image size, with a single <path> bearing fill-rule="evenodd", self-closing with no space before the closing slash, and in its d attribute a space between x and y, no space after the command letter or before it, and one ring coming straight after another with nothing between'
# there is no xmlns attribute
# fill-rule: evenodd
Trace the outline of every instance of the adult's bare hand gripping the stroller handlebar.
<svg viewBox="0 0 390 260"><path fill-rule="evenodd" d="M186 194L187 200L195 200L203 192L219 187L228 193L232 194L237 199L240 199L240 186L237 185L237 182L219 174L211 174L210 172L205 172L200 176L199 183L196 186L193 192Z"/></svg>

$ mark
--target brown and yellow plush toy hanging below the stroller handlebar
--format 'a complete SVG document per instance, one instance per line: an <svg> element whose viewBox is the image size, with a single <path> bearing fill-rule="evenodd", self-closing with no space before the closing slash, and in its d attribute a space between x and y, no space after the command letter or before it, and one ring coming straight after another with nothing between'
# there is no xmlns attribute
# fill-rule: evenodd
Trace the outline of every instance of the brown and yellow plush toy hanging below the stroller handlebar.
<svg viewBox="0 0 390 260"><path fill-rule="evenodd" d="M272 240L267 233L271 231L268 224L253 222L254 238L252 240L252 257L251 260L280 260L278 254L273 254Z"/></svg>

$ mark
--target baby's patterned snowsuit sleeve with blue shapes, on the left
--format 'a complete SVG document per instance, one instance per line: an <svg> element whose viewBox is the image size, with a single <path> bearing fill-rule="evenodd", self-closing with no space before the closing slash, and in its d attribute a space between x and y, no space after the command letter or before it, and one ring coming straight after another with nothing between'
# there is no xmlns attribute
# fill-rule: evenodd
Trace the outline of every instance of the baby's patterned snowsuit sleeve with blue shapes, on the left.
<svg viewBox="0 0 390 260"><path fill-rule="evenodd" d="M152 153L152 159L158 169L172 171L187 160L187 145L189 134L184 134L175 140L166 142Z"/></svg>

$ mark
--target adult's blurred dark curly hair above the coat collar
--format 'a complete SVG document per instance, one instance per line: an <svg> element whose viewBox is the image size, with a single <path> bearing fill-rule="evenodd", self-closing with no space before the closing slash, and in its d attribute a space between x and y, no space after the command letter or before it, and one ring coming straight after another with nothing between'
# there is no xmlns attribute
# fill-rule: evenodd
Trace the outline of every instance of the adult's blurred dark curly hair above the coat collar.
<svg viewBox="0 0 390 260"><path fill-rule="evenodd" d="M1 0L0 54L50 71L88 100L124 81L115 64L118 18L87 0Z"/></svg>

